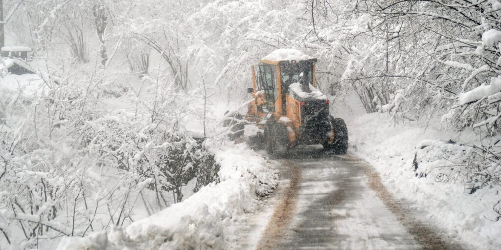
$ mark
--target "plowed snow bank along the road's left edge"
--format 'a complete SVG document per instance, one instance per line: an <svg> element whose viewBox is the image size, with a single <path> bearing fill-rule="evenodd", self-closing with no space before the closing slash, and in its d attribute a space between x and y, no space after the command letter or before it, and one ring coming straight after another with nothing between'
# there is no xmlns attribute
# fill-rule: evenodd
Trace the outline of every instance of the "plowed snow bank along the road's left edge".
<svg viewBox="0 0 501 250"><path fill-rule="evenodd" d="M244 143L216 152L220 183L136 221L84 238L67 237L58 249L231 249L259 196L272 192L277 173ZM92 249L94 249L92 248Z"/></svg>

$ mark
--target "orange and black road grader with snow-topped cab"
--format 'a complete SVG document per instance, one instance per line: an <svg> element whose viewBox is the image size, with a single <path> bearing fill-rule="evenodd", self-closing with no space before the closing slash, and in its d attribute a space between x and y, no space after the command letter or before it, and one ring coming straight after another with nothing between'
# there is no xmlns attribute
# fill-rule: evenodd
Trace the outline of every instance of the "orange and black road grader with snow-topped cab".
<svg viewBox="0 0 501 250"><path fill-rule="evenodd" d="M329 115L329 99L315 87L316 62L299 50L277 49L261 59L257 70L252 66L249 92L255 99L244 118L264 129L269 154L279 156L296 145L312 144L346 153L346 124Z"/></svg>

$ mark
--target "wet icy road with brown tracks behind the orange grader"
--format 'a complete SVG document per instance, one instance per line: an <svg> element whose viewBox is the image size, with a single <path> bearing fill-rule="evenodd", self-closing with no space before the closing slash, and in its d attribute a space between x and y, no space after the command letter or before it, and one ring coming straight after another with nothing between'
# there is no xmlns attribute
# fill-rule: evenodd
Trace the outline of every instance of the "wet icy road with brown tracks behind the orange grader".
<svg viewBox="0 0 501 250"><path fill-rule="evenodd" d="M279 160L278 192L255 249L461 249L392 197L357 157L318 150ZM424 215L425 216L425 215Z"/></svg>

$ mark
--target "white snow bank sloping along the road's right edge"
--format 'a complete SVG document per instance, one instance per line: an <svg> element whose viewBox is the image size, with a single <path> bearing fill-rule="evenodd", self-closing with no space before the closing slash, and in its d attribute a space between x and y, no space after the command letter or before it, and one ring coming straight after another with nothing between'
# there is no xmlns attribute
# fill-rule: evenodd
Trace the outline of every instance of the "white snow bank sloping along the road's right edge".
<svg viewBox="0 0 501 250"><path fill-rule="evenodd" d="M475 135L394 125L387 113L372 113L348 124L352 152L371 162L397 199L451 238L471 249L501 249L501 220L492 205L495 188L468 194L464 180L454 175L455 162L471 150L464 141ZM471 245L471 246L468 246Z"/></svg>

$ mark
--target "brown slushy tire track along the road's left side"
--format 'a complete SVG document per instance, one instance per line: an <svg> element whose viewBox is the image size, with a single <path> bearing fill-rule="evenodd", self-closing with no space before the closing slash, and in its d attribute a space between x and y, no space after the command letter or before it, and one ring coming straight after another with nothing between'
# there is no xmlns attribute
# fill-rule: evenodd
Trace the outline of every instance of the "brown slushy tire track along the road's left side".
<svg viewBox="0 0 501 250"><path fill-rule="evenodd" d="M301 186L301 169L292 161L287 160L286 165L290 182L284 188L283 198L273 211L273 215L266 226L263 236L260 239L258 250L276 249L277 243L285 236L286 229L294 217L296 211L296 198Z"/></svg>

